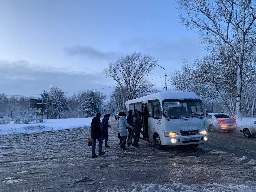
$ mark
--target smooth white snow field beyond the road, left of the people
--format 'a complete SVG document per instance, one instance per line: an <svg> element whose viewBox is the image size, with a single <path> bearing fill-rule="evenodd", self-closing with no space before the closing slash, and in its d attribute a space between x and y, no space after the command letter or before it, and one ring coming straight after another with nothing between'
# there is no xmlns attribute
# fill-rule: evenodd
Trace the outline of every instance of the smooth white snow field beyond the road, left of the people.
<svg viewBox="0 0 256 192"><path fill-rule="evenodd" d="M89 126L92 118L70 118L70 119L45 119L44 123L14 124L12 121L7 125L0 125L0 134L56 131Z"/></svg>

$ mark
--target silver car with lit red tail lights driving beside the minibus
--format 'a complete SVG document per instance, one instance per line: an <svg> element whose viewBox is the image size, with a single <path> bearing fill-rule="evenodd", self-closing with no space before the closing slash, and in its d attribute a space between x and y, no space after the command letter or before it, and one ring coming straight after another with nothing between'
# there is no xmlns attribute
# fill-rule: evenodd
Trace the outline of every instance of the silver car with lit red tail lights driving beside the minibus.
<svg viewBox="0 0 256 192"><path fill-rule="evenodd" d="M236 129L236 119L231 118L223 113L208 113L208 128L214 132L217 130L233 131Z"/></svg>

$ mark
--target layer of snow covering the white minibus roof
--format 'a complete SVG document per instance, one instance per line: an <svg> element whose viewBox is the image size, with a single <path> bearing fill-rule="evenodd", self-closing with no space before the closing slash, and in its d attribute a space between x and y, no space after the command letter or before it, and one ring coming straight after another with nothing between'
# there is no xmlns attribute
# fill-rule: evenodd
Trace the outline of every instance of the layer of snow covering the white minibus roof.
<svg viewBox="0 0 256 192"><path fill-rule="evenodd" d="M160 101L165 99L200 99L194 92L183 92L183 91L167 91L159 92L144 97L139 97L137 99L128 100L125 104L138 103L141 101L159 99Z"/></svg>

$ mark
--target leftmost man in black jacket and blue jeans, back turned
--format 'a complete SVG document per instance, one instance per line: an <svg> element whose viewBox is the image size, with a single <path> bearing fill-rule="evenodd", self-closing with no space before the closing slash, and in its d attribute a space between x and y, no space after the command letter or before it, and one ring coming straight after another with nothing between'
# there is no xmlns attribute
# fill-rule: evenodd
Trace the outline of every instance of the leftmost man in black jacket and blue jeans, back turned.
<svg viewBox="0 0 256 192"><path fill-rule="evenodd" d="M96 117L92 119L91 124L91 138L92 138L92 157L98 157L95 154L95 146L96 146L96 139L99 141L99 155L104 155L105 153L102 152L102 135L100 129L100 117L101 114L97 113Z"/></svg>

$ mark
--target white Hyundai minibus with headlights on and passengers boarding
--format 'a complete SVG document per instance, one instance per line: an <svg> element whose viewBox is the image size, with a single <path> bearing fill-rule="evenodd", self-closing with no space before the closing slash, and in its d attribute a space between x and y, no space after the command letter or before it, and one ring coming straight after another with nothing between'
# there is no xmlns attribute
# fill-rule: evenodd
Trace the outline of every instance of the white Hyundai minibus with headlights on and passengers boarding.
<svg viewBox="0 0 256 192"><path fill-rule="evenodd" d="M140 137L153 141L160 149L164 145L193 145L209 142L207 111L193 92L159 92L125 103L128 110L142 112Z"/></svg>

